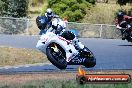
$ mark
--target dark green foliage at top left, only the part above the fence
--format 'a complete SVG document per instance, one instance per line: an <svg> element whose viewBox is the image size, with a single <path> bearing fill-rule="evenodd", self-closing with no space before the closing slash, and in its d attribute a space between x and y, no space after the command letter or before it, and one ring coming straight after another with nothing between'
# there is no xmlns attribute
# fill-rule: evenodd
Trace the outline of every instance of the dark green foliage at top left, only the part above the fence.
<svg viewBox="0 0 132 88"><path fill-rule="evenodd" d="M28 0L1 0L1 16L26 17L28 11Z"/></svg>

